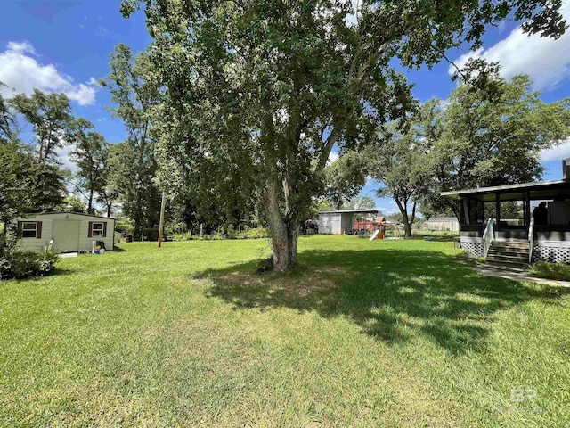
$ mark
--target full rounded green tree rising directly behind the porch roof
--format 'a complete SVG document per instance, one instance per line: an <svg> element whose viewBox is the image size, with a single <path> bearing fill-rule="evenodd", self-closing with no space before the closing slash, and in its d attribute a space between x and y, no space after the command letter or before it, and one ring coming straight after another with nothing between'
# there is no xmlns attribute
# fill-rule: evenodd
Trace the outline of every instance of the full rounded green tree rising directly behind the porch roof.
<svg viewBox="0 0 570 428"><path fill-rule="evenodd" d="M492 96L469 85L452 92L430 156L432 192L425 204L431 211L452 209L460 218L459 204L439 193L542 176L540 151L570 136L570 98L545 103L531 86L527 76L508 81L495 73Z"/></svg>

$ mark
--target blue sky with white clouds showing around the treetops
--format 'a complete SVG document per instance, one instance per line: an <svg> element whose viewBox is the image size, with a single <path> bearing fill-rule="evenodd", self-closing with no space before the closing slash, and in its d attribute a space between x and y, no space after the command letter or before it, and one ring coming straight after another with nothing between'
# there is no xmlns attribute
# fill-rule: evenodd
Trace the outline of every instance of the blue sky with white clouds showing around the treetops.
<svg viewBox="0 0 570 428"><path fill-rule="evenodd" d="M72 100L77 116L91 120L98 132L112 143L126 138L118 119L105 106L110 105L106 89L94 84L109 72L109 54L119 42L134 52L151 42L144 15L137 13L125 20L118 12L118 0L11 0L4 2L0 17L0 81L18 92L29 93L33 87L65 92ZM570 1L563 5L570 18ZM534 89L542 91L546 102L570 96L570 31L553 41L527 37L517 23L505 21L485 34L484 46L475 53L451 51L457 63L468 56L500 61L502 73L509 78L526 73L533 78ZM446 98L455 86L447 63L431 70L407 72L415 83L414 95L420 101L434 96ZM5 90L4 96L10 96ZM65 161L67 152L61 156ZM560 161L570 156L570 141L542 153L545 179L561 177ZM334 158L334 153L332 155ZM378 183L370 182L362 191L377 200L385 213L396 209L395 202L376 198Z"/></svg>

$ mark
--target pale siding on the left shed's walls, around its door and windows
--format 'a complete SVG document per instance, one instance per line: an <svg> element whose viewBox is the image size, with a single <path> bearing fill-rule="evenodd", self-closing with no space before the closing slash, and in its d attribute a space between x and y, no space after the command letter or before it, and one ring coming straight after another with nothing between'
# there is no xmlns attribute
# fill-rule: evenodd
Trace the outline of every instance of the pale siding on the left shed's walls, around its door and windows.
<svg viewBox="0 0 570 428"><path fill-rule="evenodd" d="M80 221L79 226L79 251L92 251L92 241L102 241L105 248L109 251L113 249L113 237L115 233L115 220L113 218L103 218L96 216L88 216L84 214L74 213L47 213L37 214L27 218L17 218L17 221L41 221L42 237L37 238L21 238L20 248L24 251L42 251L53 239L53 220L65 220L68 216L69 220ZM89 222L107 223L107 236L89 237Z"/></svg>

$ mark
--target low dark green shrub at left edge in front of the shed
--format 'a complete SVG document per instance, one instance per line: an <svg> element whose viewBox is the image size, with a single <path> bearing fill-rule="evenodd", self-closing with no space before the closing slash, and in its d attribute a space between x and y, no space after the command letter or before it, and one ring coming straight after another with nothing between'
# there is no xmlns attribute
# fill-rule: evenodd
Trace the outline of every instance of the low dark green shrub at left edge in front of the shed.
<svg viewBox="0 0 570 428"><path fill-rule="evenodd" d="M26 252L4 248L0 255L0 279L49 275L58 259L58 255L51 250Z"/></svg>

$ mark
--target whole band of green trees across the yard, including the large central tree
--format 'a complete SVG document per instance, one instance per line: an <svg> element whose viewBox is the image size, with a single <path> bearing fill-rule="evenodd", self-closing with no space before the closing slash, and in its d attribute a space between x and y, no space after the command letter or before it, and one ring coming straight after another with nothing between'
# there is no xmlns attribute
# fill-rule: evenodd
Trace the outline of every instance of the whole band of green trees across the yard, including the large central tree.
<svg viewBox="0 0 570 428"><path fill-rule="evenodd" d="M469 62L448 100L424 105L395 67L477 48L485 25L509 18L558 38L559 1L364 1L354 11L340 0L123 0L121 12L141 5L151 45L138 54L118 45L101 82L126 141L105 142L64 95L17 95L0 111L11 133L2 150L20 162L7 174L30 192L25 203L3 200L4 218L60 202L66 178L53 154L72 143L78 172L68 182L86 210L96 200L110 214L118 203L141 235L158 224L164 190L169 215L188 226L265 222L273 266L285 270L315 203L342 206L366 177L395 199L408 234L419 206L454 210L441 190L540 177L538 152L568 135L566 102L542 103L528 78L508 82L494 64ZM37 149L18 141L11 108L33 125ZM327 166L333 147L341 157ZM41 183L52 186L40 197Z"/></svg>

